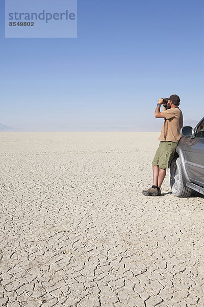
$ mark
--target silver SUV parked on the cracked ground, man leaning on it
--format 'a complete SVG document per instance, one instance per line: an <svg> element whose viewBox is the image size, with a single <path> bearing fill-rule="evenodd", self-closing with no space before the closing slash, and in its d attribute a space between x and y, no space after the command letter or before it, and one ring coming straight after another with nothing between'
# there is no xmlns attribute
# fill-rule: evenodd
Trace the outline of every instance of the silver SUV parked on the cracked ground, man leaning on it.
<svg viewBox="0 0 204 307"><path fill-rule="evenodd" d="M192 190L204 194L204 117L193 129L183 127L182 137L170 165L171 191L188 197Z"/></svg>

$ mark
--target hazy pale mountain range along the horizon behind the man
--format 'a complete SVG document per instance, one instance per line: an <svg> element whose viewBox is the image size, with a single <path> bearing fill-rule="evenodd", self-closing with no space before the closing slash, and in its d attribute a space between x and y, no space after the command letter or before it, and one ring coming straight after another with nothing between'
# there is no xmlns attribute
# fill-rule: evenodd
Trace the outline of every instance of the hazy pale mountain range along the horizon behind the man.
<svg viewBox="0 0 204 307"><path fill-rule="evenodd" d="M198 121L197 120L192 120L192 119L187 119L184 121L184 126L191 126L195 127L197 125ZM132 127L121 127L121 126L109 126L109 127L91 127L91 126L75 126L75 127L69 127L66 125L63 126L55 126L50 128L44 126L43 128L36 126L34 127L29 127L28 129L18 129L18 128L11 128L6 125L3 125L0 123L0 131L101 131L101 132L108 132L108 131L115 131L115 132L120 132L120 131L146 131L146 132L157 132L161 131L163 125L163 120L158 120L155 121L154 123L151 122L146 122L146 124L138 124Z"/></svg>

